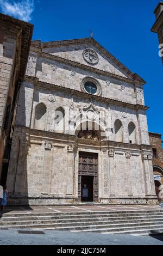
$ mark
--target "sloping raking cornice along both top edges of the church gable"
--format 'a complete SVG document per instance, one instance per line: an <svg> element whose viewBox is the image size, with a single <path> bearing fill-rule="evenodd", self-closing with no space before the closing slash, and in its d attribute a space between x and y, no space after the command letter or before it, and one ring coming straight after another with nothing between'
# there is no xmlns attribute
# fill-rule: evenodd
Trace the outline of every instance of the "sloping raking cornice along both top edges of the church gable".
<svg viewBox="0 0 163 256"><path fill-rule="evenodd" d="M73 45L73 44L88 44L91 43L94 45L99 51L101 51L106 57L111 59L111 61L117 65L121 70L126 72L128 76L131 77L132 80L138 80L141 83L145 84L146 81L143 80L136 73L131 72L125 65L123 65L117 58L115 58L110 52L108 52L101 44L99 44L94 38L80 38L80 39L70 39L70 40L61 40L61 41L49 41L49 42L41 42L41 40L35 40L32 42L32 46L43 48L51 48L63 45Z"/></svg>

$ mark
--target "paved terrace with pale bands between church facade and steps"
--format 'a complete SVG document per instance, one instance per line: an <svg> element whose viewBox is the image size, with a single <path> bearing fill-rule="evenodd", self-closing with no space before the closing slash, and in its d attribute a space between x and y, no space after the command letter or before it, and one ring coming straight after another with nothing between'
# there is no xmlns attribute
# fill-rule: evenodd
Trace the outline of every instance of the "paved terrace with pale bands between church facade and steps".
<svg viewBox="0 0 163 256"><path fill-rule="evenodd" d="M163 205L162 205L163 206ZM102 204L74 204L54 206L7 206L0 213L38 213L38 212L94 212L94 211L144 211L160 210L160 205L102 205Z"/></svg>

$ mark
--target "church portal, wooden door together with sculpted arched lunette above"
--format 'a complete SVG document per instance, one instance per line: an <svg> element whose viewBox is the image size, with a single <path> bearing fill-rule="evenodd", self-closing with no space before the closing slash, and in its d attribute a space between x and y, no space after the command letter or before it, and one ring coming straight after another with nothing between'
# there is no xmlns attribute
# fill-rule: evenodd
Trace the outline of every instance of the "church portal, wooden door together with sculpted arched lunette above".
<svg viewBox="0 0 163 256"><path fill-rule="evenodd" d="M75 134L79 139L87 141L87 148L91 143L99 145L99 141L107 138L102 126L89 120L79 123ZM79 151L78 164L78 200L98 202L98 153L90 149Z"/></svg>

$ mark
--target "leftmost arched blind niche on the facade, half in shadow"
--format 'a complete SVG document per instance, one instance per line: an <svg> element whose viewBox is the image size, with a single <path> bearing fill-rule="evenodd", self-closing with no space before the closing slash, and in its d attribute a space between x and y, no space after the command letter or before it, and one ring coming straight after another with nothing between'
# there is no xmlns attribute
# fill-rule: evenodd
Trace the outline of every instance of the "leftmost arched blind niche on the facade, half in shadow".
<svg viewBox="0 0 163 256"><path fill-rule="evenodd" d="M35 109L34 129L46 130L47 111L43 103L39 103Z"/></svg>

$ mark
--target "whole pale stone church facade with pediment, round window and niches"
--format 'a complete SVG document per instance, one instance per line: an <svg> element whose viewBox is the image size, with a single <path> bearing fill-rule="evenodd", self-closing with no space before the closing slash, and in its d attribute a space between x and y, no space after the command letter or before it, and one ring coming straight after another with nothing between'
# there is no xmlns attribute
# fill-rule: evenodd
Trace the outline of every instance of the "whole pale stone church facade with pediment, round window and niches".
<svg viewBox="0 0 163 256"><path fill-rule="evenodd" d="M12 137L10 204L156 203L144 84L93 38L33 41Z"/></svg>

